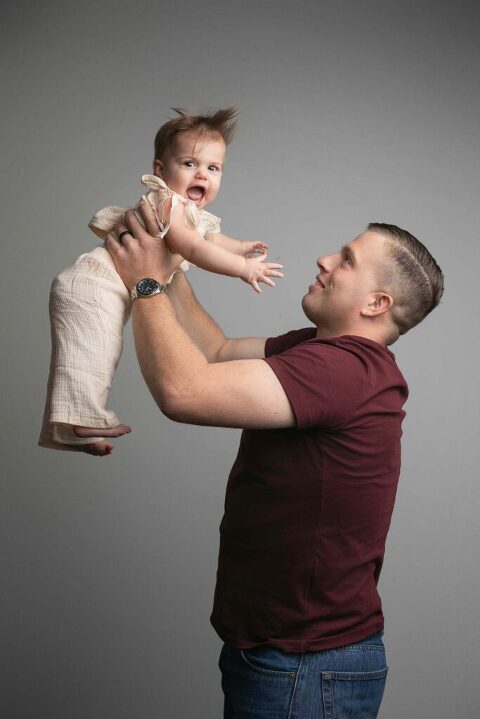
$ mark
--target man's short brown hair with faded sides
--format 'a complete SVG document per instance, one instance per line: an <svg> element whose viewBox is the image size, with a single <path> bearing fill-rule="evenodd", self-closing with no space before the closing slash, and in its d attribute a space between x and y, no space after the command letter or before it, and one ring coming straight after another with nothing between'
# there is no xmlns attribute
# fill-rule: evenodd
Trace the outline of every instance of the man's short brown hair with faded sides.
<svg viewBox="0 0 480 719"><path fill-rule="evenodd" d="M440 302L443 272L420 240L397 225L371 222L368 230L385 237L385 252L393 260L387 285L394 285L392 320L400 335L418 325Z"/></svg>

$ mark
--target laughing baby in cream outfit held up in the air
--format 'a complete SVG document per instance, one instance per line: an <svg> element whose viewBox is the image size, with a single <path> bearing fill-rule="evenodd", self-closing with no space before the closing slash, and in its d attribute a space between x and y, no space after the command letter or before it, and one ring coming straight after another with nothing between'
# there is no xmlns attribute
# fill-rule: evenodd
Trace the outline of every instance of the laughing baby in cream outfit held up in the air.
<svg viewBox="0 0 480 719"><path fill-rule="evenodd" d="M259 282L274 285L281 265L265 262L267 245L241 242L220 231L220 219L205 210L217 196L226 146L235 126L234 108L206 115L175 109L178 117L160 127L155 138L153 175L144 175L144 199L155 212L159 236L172 252L212 272L240 277L260 292ZM169 243L170 214L177 204L195 227L198 239ZM89 227L105 239L125 208L107 207ZM197 237L197 235L194 235ZM260 254L259 254L260 253ZM53 449L110 454L108 436L130 431L106 409L108 392L123 346L123 326L131 299L104 247L81 255L53 281L50 294L52 357L39 445ZM90 436L92 430L98 436Z"/></svg>

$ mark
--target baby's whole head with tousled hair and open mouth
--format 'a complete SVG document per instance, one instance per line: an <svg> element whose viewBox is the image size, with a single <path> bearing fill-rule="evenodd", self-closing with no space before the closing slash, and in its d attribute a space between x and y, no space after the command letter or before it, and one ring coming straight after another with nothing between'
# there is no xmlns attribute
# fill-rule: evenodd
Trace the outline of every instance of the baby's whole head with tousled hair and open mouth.
<svg viewBox="0 0 480 719"><path fill-rule="evenodd" d="M234 107L205 115L178 114L161 126L155 137L153 172L171 190L191 200L199 209L217 196L226 147L237 117Z"/></svg>

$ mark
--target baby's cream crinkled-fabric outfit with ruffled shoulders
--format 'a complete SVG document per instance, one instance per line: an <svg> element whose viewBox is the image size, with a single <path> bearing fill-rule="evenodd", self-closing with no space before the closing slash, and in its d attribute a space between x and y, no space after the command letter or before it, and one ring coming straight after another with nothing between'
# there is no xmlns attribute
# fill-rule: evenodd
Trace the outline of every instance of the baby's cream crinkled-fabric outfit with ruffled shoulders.
<svg viewBox="0 0 480 719"><path fill-rule="evenodd" d="M198 215L195 226L202 237L220 232L218 217L193 207ZM121 210L120 215L125 212L116 209ZM114 216L112 208L105 208L92 218L90 227L99 229L103 223L106 236L118 221L118 217L113 221ZM184 261L180 267L186 270L189 263ZM49 309L52 355L38 443L51 449L75 450L101 437L81 439L69 425L111 428L120 424L106 403L122 352L123 326L131 301L103 247L80 255L54 279Z"/></svg>

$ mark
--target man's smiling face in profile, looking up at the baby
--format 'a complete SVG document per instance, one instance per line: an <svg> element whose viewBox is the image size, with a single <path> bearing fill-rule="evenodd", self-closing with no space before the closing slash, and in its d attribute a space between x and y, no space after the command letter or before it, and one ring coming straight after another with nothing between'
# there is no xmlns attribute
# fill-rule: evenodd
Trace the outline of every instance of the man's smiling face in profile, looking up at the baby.
<svg viewBox="0 0 480 719"><path fill-rule="evenodd" d="M320 272L303 297L302 307L322 334L358 333L361 310L372 293L383 289L385 261L385 238L370 230L339 252L318 258Z"/></svg>

